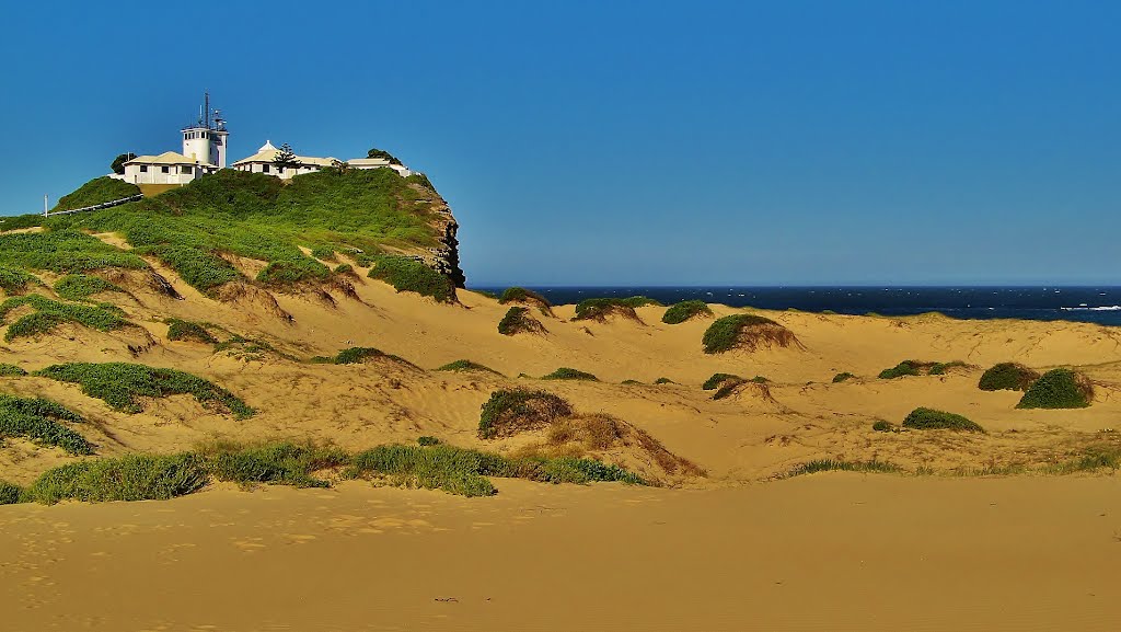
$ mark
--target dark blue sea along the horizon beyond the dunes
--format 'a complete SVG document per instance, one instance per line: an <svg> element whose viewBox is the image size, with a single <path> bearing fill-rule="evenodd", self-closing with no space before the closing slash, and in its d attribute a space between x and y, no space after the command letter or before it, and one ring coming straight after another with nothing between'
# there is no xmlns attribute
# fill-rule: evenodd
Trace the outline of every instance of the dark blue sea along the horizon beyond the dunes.
<svg viewBox="0 0 1121 632"><path fill-rule="evenodd" d="M843 314L942 312L958 319L1018 318L1121 326L1121 287L530 287L550 303L641 294L670 304L689 299L735 308L794 308ZM504 287L473 287L501 293Z"/></svg>

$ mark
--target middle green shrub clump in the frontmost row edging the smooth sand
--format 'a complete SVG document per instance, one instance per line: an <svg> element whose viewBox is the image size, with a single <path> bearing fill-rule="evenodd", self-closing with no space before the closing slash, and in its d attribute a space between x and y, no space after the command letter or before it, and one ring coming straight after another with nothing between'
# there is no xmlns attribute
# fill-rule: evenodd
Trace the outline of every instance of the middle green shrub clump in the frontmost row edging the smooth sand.
<svg viewBox="0 0 1121 632"><path fill-rule="evenodd" d="M204 458L206 469L217 480L294 487L328 487L330 483L313 477L312 473L350 461L350 456L337 449L285 442L248 448L215 446Z"/></svg>

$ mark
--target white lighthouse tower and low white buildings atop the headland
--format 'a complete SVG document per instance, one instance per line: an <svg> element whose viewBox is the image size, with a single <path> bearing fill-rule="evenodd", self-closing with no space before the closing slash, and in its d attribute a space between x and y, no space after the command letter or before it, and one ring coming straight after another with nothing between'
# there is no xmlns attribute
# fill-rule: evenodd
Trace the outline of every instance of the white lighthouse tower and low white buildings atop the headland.
<svg viewBox="0 0 1121 632"><path fill-rule="evenodd" d="M183 185L204 175L226 168L226 148L230 132L225 128L225 119L220 110L211 110L210 93L204 97L198 120L182 129L183 153L164 152L158 156L137 156L124 163L124 174L113 174L110 177L123 180L131 184ZM280 149L271 141L252 156L242 158L232 166L237 171L262 173L288 180L296 175L314 173L332 166L345 166L354 170L391 168L402 177L413 175L407 166L388 158L337 158L315 156L293 156L290 162L281 164L278 161Z"/></svg>

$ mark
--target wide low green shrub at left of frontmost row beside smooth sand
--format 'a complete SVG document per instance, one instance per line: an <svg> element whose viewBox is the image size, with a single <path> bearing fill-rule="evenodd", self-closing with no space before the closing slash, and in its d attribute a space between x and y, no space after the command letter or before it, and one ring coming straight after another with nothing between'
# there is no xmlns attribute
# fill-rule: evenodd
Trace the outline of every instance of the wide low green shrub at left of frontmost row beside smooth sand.
<svg viewBox="0 0 1121 632"><path fill-rule="evenodd" d="M27 488L43 504L167 500L196 492L206 484L206 468L194 455L129 455L48 469Z"/></svg>

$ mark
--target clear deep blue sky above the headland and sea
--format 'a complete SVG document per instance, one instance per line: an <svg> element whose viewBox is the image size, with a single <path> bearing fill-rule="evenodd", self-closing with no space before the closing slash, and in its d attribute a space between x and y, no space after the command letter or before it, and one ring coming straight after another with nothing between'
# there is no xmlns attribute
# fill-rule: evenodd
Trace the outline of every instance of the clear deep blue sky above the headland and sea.
<svg viewBox="0 0 1121 632"><path fill-rule="evenodd" d="M17 2L0 214L179 150L371 146L469 285L1118 283L1121 2Z"/></svg>

